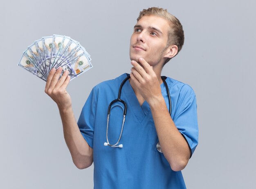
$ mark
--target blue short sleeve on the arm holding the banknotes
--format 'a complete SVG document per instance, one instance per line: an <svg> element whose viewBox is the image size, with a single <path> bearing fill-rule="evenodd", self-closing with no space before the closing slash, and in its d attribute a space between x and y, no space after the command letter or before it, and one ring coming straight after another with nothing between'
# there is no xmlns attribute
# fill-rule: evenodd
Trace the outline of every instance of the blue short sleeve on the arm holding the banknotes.
<svg viewBox="0 0 256 189"><path fill-rule="evenodd" d="M77 125L88 145L93 148L94 124L97 112L97 94L95 87L83 106Z"/></svg>

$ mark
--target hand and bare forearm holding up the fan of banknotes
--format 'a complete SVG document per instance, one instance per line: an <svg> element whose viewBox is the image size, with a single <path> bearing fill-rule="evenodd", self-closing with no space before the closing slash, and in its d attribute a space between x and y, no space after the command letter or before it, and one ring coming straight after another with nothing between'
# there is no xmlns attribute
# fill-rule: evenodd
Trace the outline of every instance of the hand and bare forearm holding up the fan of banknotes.
<svg viewBox="0 0 256 189"><path fill-rule="evenodd" d="M49 95L58 105L63 125L64 138L74 164L79 169L85 169L92 165L93 149L83 138L76 123L72 110L71 98L66 91L67 85L70 82L68 71L65 71L59 79L61 72L61 67L59 67L57 71L53 68L49 72L45 85L45 93L47 93L47 95Z"/></svg>

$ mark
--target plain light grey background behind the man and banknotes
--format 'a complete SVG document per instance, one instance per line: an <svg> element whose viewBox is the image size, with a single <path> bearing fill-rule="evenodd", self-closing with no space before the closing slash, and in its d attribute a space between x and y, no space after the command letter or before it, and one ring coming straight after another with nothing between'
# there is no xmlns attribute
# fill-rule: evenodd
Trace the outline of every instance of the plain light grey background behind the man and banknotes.
<svg viewBox="0 0 256 189"><path fill-rule="evenodd" d="M67 89L78 118L94 85L130 72L133 26L139 11L153 6L175 15L185 32L182 51L162 75L189 84L197 96L200 136L182 171L187 188L255 187L255 0L27 0L0 6L0 188L93 188L93 166L73 164L45 82L17 64L43 36L79 41L94 67Z"/></svg>

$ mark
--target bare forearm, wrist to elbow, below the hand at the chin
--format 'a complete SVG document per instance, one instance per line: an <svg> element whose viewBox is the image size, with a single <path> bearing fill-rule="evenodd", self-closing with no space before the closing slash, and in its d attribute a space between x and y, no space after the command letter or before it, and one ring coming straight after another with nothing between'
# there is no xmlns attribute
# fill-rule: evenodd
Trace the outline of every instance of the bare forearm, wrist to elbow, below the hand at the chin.
<svg viewBox="0 0 256 189"><path fill-rule="evenodd" d="M150 104L157 136L164 156L173 171L180 171L186 167L189 161L189 146L175 126L166 107L164 98L157 98Z"/></svg>

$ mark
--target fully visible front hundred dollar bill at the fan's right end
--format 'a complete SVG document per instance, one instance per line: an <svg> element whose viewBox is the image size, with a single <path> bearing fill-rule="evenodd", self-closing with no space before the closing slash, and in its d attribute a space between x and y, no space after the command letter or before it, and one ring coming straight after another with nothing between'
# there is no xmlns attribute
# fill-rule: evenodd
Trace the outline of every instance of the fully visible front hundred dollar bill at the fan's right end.
<svg viewBox="0 0 256 189"><path fill-rule="evenodd" d="M68 70L70 80L73 80L82 73L85 73L85 71L91 69L92 64L88 61L88 57L84 53L83 56L80 56L78 59L74 60L74 62L63 64L62 68L63 71L61 75L64 73L64 71Z"/></svg>

